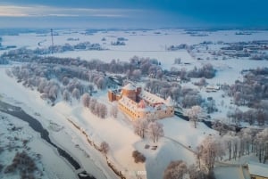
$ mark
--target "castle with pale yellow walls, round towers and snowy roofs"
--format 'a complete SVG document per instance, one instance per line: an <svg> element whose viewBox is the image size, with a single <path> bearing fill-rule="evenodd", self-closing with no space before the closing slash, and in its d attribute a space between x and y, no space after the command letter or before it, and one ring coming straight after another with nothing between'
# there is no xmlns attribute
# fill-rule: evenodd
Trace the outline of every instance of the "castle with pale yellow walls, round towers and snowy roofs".
<svg viewBox="0 0 268 179"><path fill-rule="evenodd" d="M118 108L133 120L168 118L174 115L172 98L166 100L150 94L141 87L128 84L108 92L110 102L117 101Z"/></svg>

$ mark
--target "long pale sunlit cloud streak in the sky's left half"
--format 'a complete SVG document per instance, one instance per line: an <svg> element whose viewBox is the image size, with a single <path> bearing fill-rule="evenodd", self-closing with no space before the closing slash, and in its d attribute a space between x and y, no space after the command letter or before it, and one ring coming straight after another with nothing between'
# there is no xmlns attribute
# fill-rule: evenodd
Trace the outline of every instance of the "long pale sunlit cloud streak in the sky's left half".
<svg viewBox="0 0 268 179"><path fill-rule="evenodd" d="M52 6L0 5L0 17L106 17L126 18L130 13L140 12L133 9L86 9L61 8Z"/></svg>

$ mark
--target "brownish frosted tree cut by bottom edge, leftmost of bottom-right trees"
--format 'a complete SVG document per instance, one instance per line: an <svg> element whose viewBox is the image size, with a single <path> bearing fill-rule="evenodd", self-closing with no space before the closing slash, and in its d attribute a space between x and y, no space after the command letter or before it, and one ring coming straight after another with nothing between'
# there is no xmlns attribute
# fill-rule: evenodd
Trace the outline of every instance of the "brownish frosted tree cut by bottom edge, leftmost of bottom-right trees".
<svg viewBox="0 0 268 179"><path fill-rule="evenodd" d="M163 179L183 179L187 174L187 164L185 161L172 161L164 170Z"/></svg>

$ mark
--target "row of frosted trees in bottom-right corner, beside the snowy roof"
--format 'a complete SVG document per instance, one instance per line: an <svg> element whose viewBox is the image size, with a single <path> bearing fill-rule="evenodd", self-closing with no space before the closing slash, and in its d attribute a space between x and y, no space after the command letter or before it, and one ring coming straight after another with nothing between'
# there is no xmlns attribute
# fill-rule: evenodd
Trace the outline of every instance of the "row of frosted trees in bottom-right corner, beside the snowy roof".
<svg viewBox="0 0 268 179"><path fill-rule="evenodd" d="M197 146L197 164L188 166L183 160L172 161L164 170L163 178L214 179L214 165L222 159L239 159L254 153L259 162L268 159L268 128L242 129L239 133L207 135Z"/></svg>

